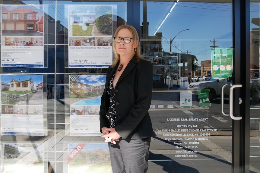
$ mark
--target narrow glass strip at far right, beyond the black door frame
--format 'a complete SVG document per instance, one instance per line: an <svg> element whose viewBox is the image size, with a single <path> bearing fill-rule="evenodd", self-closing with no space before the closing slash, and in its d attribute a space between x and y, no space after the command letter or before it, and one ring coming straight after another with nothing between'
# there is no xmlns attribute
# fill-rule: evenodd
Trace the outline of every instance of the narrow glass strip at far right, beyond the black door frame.
<svg viewBox="0 0 260 173"><path fill-rule="evenodd" d="M250 170L259 172L260 165L260 131L259 131L259 16L260 1L250 3Z"/></svg>

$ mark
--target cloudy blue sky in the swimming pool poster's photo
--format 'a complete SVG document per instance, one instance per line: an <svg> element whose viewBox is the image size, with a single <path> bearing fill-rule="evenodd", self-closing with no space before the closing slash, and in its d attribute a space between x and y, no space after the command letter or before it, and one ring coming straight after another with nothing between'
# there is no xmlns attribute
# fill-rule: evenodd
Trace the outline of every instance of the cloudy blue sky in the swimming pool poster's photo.
<svg viewBox="0 0 260 173"><path fill-rule="evenodd" d="M105 85L106 75L76 75L80 76L80 81L83 84L100 86Z"/></svg>

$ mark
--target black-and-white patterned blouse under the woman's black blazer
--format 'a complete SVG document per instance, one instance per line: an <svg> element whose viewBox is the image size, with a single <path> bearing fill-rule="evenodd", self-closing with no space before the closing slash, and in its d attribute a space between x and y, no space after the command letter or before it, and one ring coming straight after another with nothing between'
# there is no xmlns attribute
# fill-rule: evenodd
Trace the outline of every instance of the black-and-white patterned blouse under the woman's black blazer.
<svg viewBox="0 0 260 173"><path fill-rule="evenodd" d="M115 74L113 75L113 77ZM109 121L110 128L116 127L116 110L115 110L115 89L113 88L113 77L109 81L109 85L107 85L106 92L110 96L109 104L110 107L106 113L106 118Z"/></svg>

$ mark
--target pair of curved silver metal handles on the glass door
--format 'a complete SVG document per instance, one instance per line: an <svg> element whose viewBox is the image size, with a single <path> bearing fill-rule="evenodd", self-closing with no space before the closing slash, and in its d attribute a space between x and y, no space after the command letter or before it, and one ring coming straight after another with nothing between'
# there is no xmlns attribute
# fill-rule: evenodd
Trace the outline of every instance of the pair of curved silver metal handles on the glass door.
<svg viewBox="0 0 260 173"><path fill-rule="evenodd" d="M226 86L230 85L230 90L229 90L229 114L226 114L224 112L224 88ZM233 116L233 89L234 88L240 88L243 85L240 84L236 84L236 85L232 85L232 84L225 84L222 86L221 88L221 112L224 116L230 116L231 119L234 120L240 120L242 119L242 116Z"/></svg>

